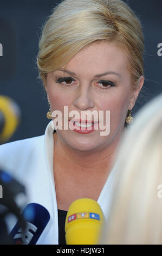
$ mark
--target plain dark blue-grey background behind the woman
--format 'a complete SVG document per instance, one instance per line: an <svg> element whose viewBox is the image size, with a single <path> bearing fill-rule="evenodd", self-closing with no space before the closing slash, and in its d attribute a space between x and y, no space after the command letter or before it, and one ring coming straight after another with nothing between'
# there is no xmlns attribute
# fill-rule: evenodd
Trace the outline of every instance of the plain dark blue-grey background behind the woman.
<svg viewBox="0 0 162 256"><path fill-rule="evenodd" d="M10 96L22 111L21 123L10 141L44 134L48 101L37 79L36 56L43 22L57 0L0 0L0 95ZM88 0L87 0L88 1ZM145 35L145 84L133 114L154 96L162 93L162 57L157 45L162 42L162 0L126 1L141 20ZM161 104L162 106L162 104Z"/></svg>

